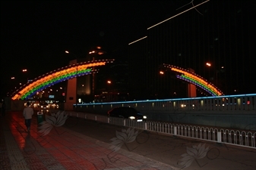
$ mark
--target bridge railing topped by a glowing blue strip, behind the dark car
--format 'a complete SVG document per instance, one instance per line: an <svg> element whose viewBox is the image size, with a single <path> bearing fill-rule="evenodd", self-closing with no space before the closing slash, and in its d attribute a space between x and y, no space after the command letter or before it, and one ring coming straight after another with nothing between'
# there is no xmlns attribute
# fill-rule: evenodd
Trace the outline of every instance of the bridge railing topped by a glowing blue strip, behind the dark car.
<svg viewBox="0 0 256 170"><path fill-rule="evenodd" d="M77 111L103 111L114 107L135 107L140 111L249 111L256 112L256 94L241 94L218 97L176 98L165 100L135 100L92 104L74 104Z"/></svg>

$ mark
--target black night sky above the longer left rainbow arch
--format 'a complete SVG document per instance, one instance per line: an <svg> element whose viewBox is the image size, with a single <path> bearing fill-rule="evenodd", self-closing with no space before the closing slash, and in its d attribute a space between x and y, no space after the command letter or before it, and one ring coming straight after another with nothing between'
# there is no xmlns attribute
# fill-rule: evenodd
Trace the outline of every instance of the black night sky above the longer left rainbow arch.
<svg viewBox="0 0 256 170"><path fill-rule="evenodd" d="M1 96L12 76L36 78L85 56L96 45L115 51L146 36L147 27L191 8L176 10L189 2L1 1ZM194 5L201 2L194 0Z"/></svg>

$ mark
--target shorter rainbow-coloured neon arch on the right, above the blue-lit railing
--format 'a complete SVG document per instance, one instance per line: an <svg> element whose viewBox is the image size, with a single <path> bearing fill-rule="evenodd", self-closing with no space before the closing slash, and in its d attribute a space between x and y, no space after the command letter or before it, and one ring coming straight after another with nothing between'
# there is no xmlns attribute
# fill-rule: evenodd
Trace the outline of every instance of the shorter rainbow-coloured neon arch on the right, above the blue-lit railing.
<svg viewBox="0 0 256 170"><path fill-rule="evenodd" d="M204 89L208 93L210 93L213 96L222 96L223 92L220 91L215 85L208 82L206 79L204 79L201 76L198 76L195 73L191 73L188 70L182 69L178 66L172 66L169 64L163 64L164 67L170 68L172 71L175 71L177 73L181 73L180 75L176 75L178 79L182 79L186 82L190 82L193 85L197 85L199 88Z"/></svg>

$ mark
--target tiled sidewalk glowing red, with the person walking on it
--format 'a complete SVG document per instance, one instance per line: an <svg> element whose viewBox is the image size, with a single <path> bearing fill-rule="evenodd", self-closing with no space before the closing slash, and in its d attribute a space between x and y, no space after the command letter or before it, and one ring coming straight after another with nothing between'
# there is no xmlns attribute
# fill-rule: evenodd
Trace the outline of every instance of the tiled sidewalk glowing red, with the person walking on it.
<svg viewBox="0 0 256 170"><path fill-rule="evenodd" d="M120 149L68 128L39 133L33 117L27 133L21 112L1 118L0 169L172 169L170 165Z"/></svg>

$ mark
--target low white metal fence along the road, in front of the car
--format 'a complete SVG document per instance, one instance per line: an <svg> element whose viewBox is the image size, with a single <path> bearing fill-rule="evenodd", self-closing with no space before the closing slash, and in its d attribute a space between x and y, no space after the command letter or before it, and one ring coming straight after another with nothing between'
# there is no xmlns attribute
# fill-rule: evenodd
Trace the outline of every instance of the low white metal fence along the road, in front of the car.
<svg viewBox="0 0 256 170"><path fill-rule="evenodd" d="M112 125L138 128L146 131L154 131L157 133L170 134L185 138L194 138L256 149L256 132L251 131L208 128L198 125L179 125L169 122L137 122L136 120L99 116L92 113L68 113L68 116L75 116L82 119L90 119L97 122L105 122Z"/></svg>

